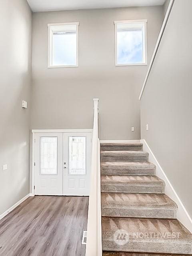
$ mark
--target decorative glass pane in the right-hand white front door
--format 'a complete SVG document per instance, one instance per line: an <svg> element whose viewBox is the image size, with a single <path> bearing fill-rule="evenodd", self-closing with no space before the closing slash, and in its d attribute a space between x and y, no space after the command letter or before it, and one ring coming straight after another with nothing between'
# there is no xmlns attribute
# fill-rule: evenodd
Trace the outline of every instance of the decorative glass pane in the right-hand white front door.
<svg viewBox="0 0 192 256"><path fill-rule="evenodd" d="M86 137L69 137L69 174L86 174Z"/></svg>

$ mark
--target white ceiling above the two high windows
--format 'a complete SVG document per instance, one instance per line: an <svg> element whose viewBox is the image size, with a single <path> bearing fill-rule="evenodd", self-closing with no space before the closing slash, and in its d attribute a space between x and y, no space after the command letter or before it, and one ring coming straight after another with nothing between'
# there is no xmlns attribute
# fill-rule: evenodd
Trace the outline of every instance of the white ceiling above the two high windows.
<svg viewBox="0 0 192 256"><path fill-rule="evenodd" d="M166 0L27 0L33 12L163 5Z"/></svg>

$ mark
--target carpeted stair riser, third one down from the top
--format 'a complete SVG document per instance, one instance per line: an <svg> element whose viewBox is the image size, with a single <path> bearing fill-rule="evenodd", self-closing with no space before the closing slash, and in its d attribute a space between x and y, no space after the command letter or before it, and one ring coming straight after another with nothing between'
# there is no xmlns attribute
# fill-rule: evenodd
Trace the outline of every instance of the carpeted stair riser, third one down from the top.
<svg viewBox="0 0 192 256"><path fill-rule="evenodd" d="M102 168L101 167L101 175L146 175L146 176L154 176L155 169L125 169L125 168Z"/></svg>

